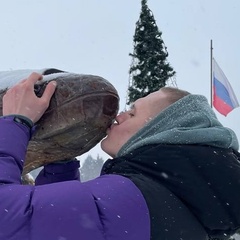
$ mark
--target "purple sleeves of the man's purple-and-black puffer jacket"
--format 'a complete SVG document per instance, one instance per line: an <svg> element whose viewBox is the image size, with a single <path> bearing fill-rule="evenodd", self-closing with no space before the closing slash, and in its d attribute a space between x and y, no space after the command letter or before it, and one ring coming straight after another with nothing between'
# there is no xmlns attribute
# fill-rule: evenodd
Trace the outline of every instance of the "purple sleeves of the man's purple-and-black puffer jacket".
<svg viewBox="0 0 240 240"><path fill-rule="evenodd" d="M80 183L72 161L45 167L35 186L21 185L29 138L28 127L0 118L0 240L150 239L148 207L128 178Z"/></svg>

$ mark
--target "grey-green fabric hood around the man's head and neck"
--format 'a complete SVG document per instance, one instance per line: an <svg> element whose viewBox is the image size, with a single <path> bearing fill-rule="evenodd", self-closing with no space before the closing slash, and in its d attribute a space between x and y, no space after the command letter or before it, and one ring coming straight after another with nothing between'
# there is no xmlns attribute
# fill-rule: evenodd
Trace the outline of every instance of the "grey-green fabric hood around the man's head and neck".
<svg viewBox="0 0 240 240"><path fill-rule="evenodd" d="M125 155L150 144L200 144L238 150L236 134L224 127L206 97L190 94L164 109L119 150Z"/></svg>

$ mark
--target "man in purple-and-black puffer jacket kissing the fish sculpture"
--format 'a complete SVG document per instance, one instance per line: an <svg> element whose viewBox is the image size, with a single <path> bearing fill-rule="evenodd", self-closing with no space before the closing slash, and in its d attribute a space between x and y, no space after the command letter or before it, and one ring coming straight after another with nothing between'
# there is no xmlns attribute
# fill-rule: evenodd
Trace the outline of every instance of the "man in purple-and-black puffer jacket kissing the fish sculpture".
<svg viewBox="0 0 240 240"><path fill-rule="evenodd" d="M44 167L35 186L21 173L41 98L32 73L3 97L0 118L0 240L228 239L240 227L235 133L207 99L164 87L120 113L102 141L101 175L79 181L79 162Z"/></svg>

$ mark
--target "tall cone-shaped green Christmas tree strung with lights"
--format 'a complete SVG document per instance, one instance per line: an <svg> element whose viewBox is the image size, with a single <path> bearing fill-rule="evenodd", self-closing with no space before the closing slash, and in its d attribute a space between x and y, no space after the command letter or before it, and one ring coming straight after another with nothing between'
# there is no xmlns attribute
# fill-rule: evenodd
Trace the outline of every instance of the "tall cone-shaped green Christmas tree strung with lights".
<svg viewBox="0 0 240 240"><path fill-rule="evenodd" d="M130 81L127 104L140 97L159 90L166 81L175 75L175 71L167 62L168 52L161 38L152 11L147 0L141 0L142 8L136 22L133 37L134 49L129 55L132 65L129 70Z"/></svg>

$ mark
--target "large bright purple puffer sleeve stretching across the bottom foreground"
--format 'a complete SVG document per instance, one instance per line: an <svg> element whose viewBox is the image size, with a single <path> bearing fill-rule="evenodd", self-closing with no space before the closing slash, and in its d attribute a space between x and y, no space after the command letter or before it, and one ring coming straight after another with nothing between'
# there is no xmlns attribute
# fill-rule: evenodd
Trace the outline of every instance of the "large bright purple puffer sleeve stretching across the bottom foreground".
<svg viewBox="0 0 240 240"><path fill-rule="evenodd" d="M150 219L141 192L127 178L42 186L0 186L0 239L149 240Z"/></svg>

